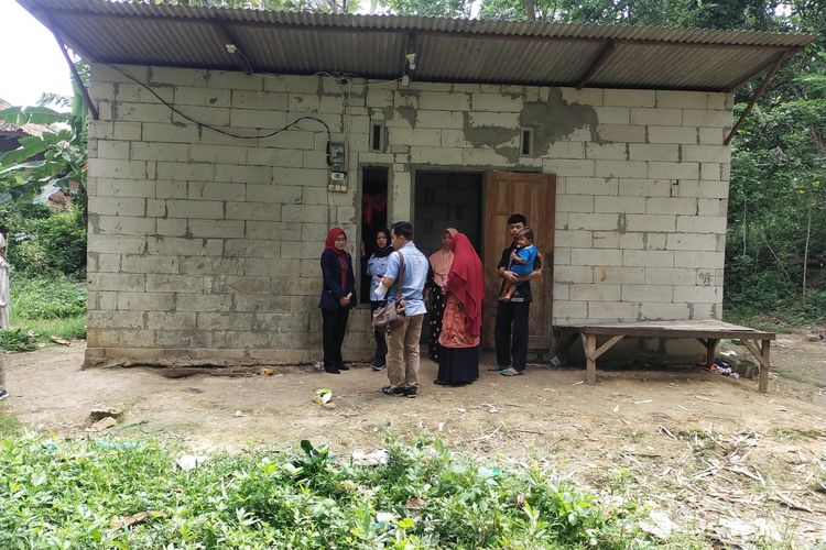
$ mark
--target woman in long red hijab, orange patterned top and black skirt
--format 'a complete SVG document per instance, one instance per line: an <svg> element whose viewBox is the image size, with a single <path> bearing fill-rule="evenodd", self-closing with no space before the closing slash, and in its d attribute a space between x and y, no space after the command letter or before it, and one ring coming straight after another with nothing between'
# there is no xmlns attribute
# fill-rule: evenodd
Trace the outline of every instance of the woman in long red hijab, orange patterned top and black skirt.
<svg viewBox="0 0 826 550"><path fill-rule="evenodd" d="M439 385L470 384L479 377L479 336L485 298L485 271L467 235L450 240L454 257L445 280L445 312L438 343Z"/></svg>

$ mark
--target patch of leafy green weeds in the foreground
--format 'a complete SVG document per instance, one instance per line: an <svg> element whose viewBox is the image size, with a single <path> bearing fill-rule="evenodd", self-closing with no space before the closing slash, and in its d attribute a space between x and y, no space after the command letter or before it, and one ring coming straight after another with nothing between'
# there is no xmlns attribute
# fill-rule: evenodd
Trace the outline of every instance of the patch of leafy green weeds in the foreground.
<svg viewBox="0 0 826 550"><path fill-rule="evenodd" d="M480 469L430 440L393 442L388 464L372 468L302 447L298 458L250 451L182 472L175 449L157 442L9 437L0 442L0 548L651 544L632 507L600 505L537 465ZM112 529L145 510L157 514Z"/></svg>

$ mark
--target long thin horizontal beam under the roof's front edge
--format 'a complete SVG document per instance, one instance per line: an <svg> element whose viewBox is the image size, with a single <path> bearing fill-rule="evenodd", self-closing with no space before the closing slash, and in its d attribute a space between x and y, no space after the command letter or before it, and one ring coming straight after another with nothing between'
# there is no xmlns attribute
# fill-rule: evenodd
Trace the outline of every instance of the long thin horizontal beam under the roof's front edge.
<svg viewBox="0 0 826 550"><path fill-rule="evenodd" d="M153 8L153 7L145 7ZM262 21L230 21L225 19L216 18L204 18L204 19L184 19L175 15L143 15L137 13L98 13L87 10L63 10L54 9L48 10L48 13L61 16L61 18L91 18L91 19L112 19L112 20L145 20L145 21L161 21L177 24L227 24L228 26L249 26L249 28L263 28L263 29L280 29L289 31L304 31L304 32L317 32L317 33L344 33L344 34L399 34L409 33L409 29L369 29L369 28L345 28L345 26L311 26L311 25L297 25L293 23L268 23ZM530 42L568 42L568 43L605 43L607 38L588 37L588 36L535 36L535 35L511 35L511 34L497 34L489 32L456 32L456 31L427 31L417 30L419 35L434 35L457 38L480 38L480 40L501 40L501 41L530 41ZM663 44L664 41L650 40L650 38L610 38L616 44L622 45L653 45ZM767 44L727 44L725 42L677 42L669 41L670 46L681 47L697 47L697 48L719 48L729 47L732 50L768 50L768 51L780 51L793 47L800 50L796 46L787 45L767 45Z"/></svg>

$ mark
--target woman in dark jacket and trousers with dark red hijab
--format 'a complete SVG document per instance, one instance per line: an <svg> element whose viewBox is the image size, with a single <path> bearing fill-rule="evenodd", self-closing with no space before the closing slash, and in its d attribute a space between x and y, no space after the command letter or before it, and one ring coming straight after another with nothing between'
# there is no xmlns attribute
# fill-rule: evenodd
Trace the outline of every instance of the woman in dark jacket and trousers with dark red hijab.
<svg viewBox="0 0 826 550"><path fill-rule="evenodd" d="M352 274L352 258L345 250L347 235L341 228L333 228L327 233L322 253L322 308L324 342L324 371L339 374L350 367L341 360L341 344L347 332L350 309L356 306L356 277Z"/></svg>

